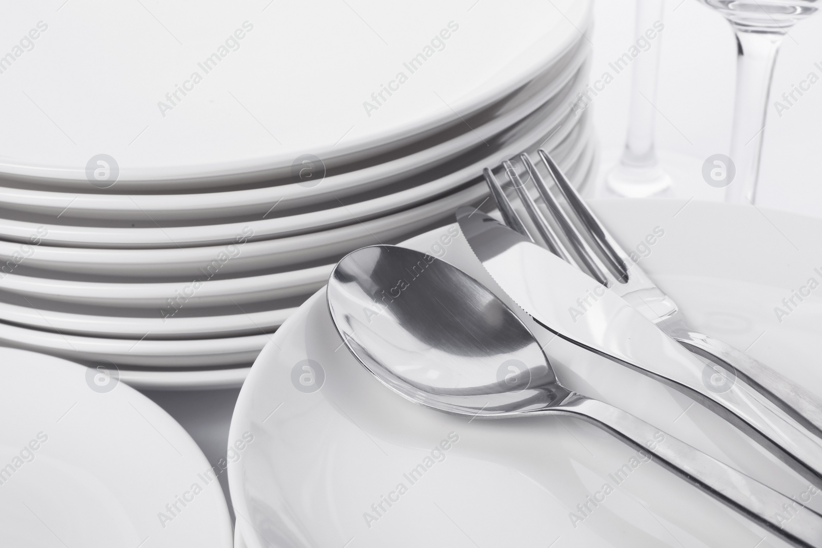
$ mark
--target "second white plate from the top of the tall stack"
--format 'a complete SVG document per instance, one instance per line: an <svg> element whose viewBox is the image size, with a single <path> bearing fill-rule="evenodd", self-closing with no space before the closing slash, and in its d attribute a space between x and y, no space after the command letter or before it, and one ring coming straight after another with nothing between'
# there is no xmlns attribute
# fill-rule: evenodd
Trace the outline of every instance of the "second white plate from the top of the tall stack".
<svg viewBox="0 0 822 548"><path fill-rule="evenodd" d="M0 202L11 210L54 217L60 215L64 219L145 221L147 216L154 221L162 221L218 219L238 215L261 217L270 213L270 208L275 204L275 214L279 214L294 207L344 198L407 179L453 159L483 144L483 140L492 140L492 136L514 126L543 104L548 103L547 108L542 108L543 112L550 110L551 105L564 106L567 95L576 92L575 88L565 86L569 81L578 79L580 66L588 56L587 43L580 39L580 43L566 54L566 58L557 61L552 71L541 75L538 81L529 83L524 89L518 90L518 94L523 95L524 99L517 104L517 108L493 108L481 124L475 123L473 119L466 121L466 131L458 136L436 145L429 145L413 154L405 154L354 171L330 175L322 180L319 187L305 182L279 182L267 187L246 190L132 196L101 192L91 186L86 193L80 194L7 187L0 188ZM536 89L529 89L532 86Z"/></svg>

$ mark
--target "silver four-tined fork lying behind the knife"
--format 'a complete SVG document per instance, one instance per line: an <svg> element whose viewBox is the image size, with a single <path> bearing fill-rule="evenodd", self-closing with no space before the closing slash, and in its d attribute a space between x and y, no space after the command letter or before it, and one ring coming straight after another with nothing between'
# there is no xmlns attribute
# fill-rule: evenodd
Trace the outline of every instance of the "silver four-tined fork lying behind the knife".
<svg viewBox="0 0 822 548"><path fill-rule="evenodd" d="M524 188L524 182L514 166L510 162L504 162L503 167L506 169L507 176L514 184L524 209L529 214L539 235L543 237L549 251L582 269L597 279L599 283L603 283L690 352L713 361L712 366L717 371L716 378L719 382L741 379L781 409L788 417L797 421L807 433L815 435L817 440L822 438L822 400L820 398L769 366L748 356L745 352L710 335L691 329L677 304L653 283L653 280L640 269L639 265L630 260L628 254L608 233L603 223L599 222L553 159L542 149L538 150L538 155L565 198L570 216L576 219L576 225L588 235L594 246L598 248L599 254L593 251L580 233L580 229L571 221L569 214L561 208L528 154L521 154L520 161L524 164L530 179L533 180L549 216L565 235L574 254L570 253L557 236L556 231L547 223L537 204ZM537 243L510 205L510 201L493 173L486 169L483 174L506 225Z"/></svg>

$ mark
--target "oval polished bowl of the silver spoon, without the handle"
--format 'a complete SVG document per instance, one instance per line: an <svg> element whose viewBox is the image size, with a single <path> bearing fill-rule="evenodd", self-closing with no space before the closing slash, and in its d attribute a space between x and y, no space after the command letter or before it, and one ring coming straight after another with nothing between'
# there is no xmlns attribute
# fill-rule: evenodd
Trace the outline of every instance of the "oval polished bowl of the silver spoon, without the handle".
<svg viewBox="0 0 822 548"><path fill-rule="evenodd" d="M570 394L520 318L445 261L404 247L364 247L339 261L327 291L351 352L413 403L503 417Z"/></svg>

